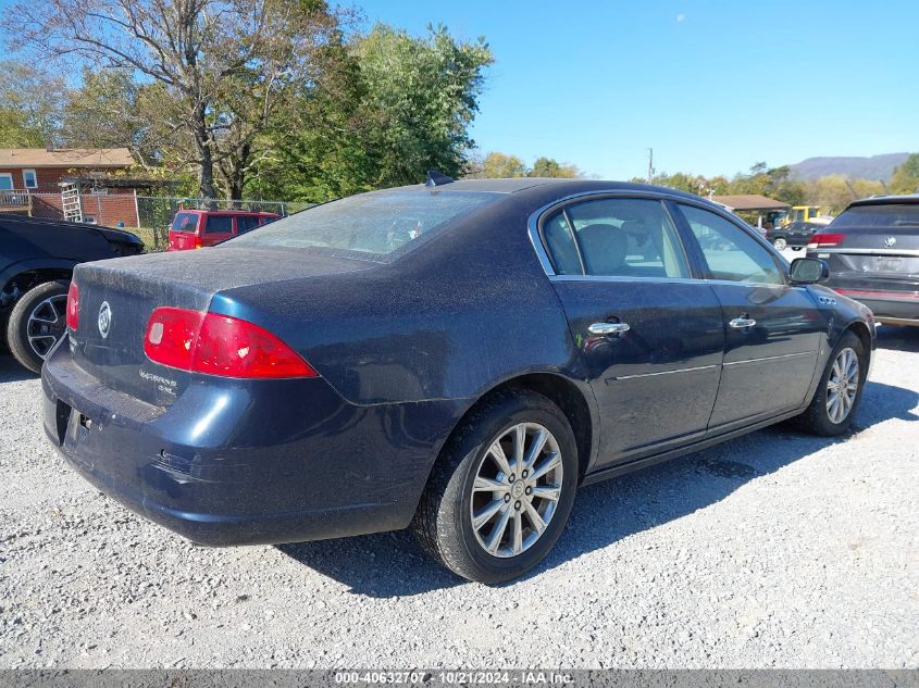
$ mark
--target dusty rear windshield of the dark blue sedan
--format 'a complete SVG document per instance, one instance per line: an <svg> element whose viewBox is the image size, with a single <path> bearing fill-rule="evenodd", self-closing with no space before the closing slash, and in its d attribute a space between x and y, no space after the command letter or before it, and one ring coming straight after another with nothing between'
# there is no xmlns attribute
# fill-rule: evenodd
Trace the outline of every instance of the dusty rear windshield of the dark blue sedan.
<svg viewBox="0 0 919 688"><path fill-rule="evenodd" d="M276 220L226 246L314 249L387 262L500 197L479 191L371 191Z"/></svg>

